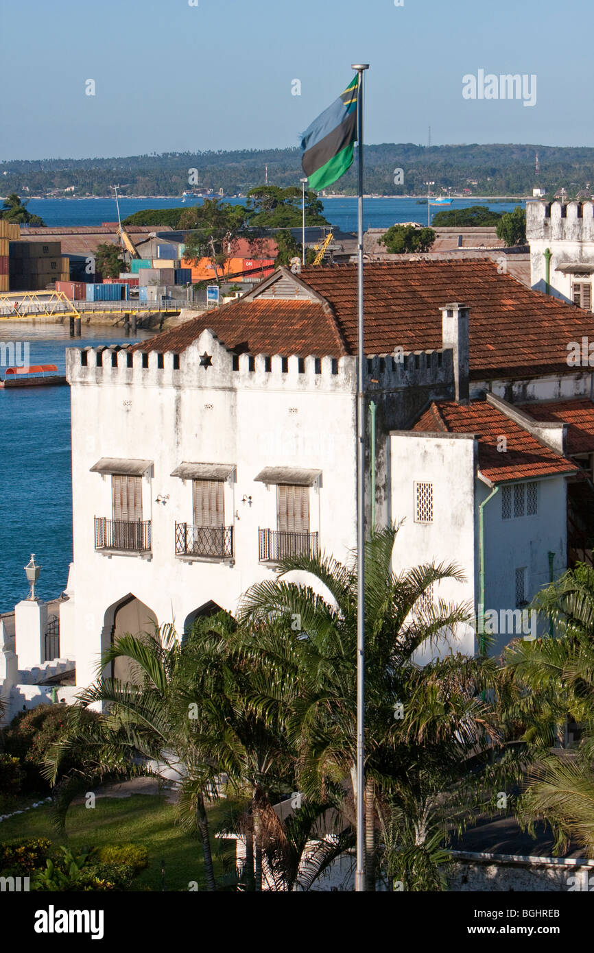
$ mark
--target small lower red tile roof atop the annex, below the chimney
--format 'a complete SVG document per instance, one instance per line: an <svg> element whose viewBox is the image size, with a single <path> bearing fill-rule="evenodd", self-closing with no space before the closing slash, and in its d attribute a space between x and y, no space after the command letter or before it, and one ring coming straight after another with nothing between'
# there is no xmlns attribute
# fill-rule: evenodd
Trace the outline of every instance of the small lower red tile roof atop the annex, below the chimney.
<svg viewBox="0 0 594 953"><path fill-rule="evenodd" d="M418 433L474 434L479 438L479 469L492 483L575 473L579 468L545 447L486 400L458 404L434 401L413 427ZM499 451L504 436L506 450Z"/></svg>

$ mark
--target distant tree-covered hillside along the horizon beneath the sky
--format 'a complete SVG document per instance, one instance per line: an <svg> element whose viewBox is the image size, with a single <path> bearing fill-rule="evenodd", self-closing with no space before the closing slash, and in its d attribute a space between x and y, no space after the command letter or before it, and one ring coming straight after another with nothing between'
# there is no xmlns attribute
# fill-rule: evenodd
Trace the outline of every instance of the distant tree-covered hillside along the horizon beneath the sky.
<svg viewBox="0 0 594 953"><path fill-rule="evenodd" d="M535 153L540 175L535 174ZM564 188L569 196L594 187L594 149L556 146L469 145L415 146L384 143L365 148L365 190L380 195L422 194L428 177L438 188L470 189L480 195L531 195L539 186L547 193ZM298 149L237 152L165 152L105 159L14 159L0 163L5 194L48 194L74 187L78 196L108 195L114 182L123 195L181 195L196 169L199 186L222 189L226 195L246 193L264 181L268 166L271 185L298 184ZM395 171L403 182L394 184ZM591 183L591 184L590 184ZM355 166L337 183L337 191L356 193Z"/></svg>

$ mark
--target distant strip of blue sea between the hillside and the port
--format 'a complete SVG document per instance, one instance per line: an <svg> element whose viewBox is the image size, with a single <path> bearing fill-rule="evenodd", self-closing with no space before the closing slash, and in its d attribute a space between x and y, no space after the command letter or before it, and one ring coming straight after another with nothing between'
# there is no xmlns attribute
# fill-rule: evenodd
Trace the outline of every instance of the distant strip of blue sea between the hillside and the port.
<svg viewBox="0 0 594 953"><path fill-rule="evenodd" d="M242 204L245 199L225 198L232 205ZM416 198L366 198L363 203L363 224L365 229L389 228L397 222L420 222L427 224L427 205ZM190 208L200 205L201 199L184 202ZM322 199L324 214L328 221L343 232L357 231L356 198ZM470 205L483 205L494 212L511 212L516 205L524 202L480 201L476 198L456 198L445 209L467 209ZM140 212L142 209L181 208L181 198L120 198L119 207L122 218ZM34 215L41 215L46 225L100 225L101 222L117 221L115 202L111 198L31 198L28 209ZM440 212L433 206L432 215Z"/></svg>

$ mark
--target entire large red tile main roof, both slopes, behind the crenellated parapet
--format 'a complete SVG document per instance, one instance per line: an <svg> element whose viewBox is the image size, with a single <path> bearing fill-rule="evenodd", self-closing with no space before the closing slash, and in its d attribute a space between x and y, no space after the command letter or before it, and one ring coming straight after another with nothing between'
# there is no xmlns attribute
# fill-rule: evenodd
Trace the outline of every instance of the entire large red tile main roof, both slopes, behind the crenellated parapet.
<svg viewBox="0 0 594 953"><path fill-rule="evenodd" d="M301 299L310 294L316 309L310 320L306 306L296 308L286 293L258 298L279 279L295 284ZM364 290L367 355L393 354L398 347L405 352L439 349L440 307L448 301L466 305L470 376L475 380L573 372L566 362L567 344L581 335L594 336L594 314L499 274L492 261L371 262L365 265ZM291 321L297 315L306 319L294 329ZM253 353L354 355L357 266L308 267L298 275L278 269L246 298L137 347L182 351L204 328L212 328L228 346L249 337Z"/></svg>

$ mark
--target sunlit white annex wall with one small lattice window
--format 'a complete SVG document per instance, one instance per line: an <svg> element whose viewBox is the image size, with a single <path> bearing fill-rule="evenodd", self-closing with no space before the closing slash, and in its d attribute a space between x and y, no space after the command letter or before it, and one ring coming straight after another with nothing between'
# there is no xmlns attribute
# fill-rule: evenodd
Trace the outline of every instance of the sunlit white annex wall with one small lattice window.
<svg viewBox="0 0 594 953"><path fill-rule="evenodd" d="M426 562L455 561L464 582L443 580L435 598L462 604L474 602L474 470L475 441L472 436L427 436L398 432L391 439L392 519L404 519L396 539L394 571L399 573ZM433 522L415 522L415 482L433 483ZM457 651L474 653L474 632L461 627L451 644ZM420 661L439 653L429 646Z"/></svg>

